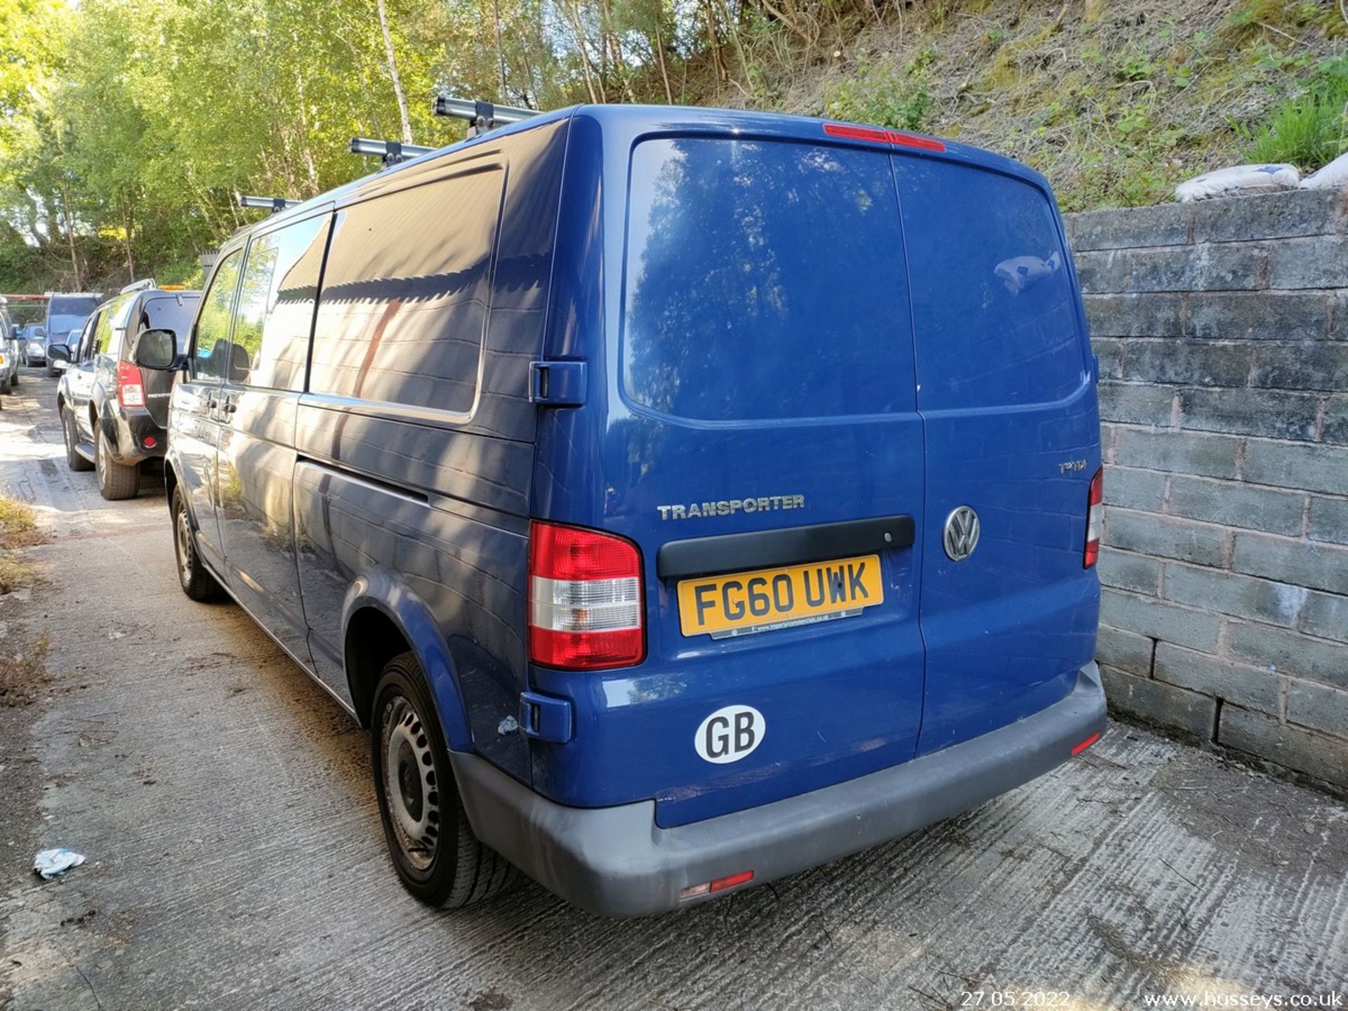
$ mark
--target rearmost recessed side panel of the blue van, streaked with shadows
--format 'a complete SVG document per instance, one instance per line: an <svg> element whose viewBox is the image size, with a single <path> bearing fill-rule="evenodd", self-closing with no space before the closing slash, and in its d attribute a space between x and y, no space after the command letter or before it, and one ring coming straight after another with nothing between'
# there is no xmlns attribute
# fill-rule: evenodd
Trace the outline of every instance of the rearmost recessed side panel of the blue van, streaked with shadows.
<svg viewBox="0 0 1348 1011"><path fill-rule="evenodd" d="M483 167L341 212L310 391L472 410L503 178Z"/></svg>

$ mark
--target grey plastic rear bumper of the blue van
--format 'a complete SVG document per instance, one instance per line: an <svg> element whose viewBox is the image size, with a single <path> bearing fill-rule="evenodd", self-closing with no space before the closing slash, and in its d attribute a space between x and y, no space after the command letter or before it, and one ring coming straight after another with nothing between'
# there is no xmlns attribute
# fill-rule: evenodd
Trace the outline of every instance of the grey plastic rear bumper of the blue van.
<svg viewBox="0 0 1348 1011"><path fill-rule="evenodd" d="M754 884L838 860L1006 793L1105 728L1095 663L1060 702L945 751L717 818L662 829L655 802L566 807L484 759L450 752L473 832L563 899L611 917L678 909L679 891L741 871Z"/></svg>

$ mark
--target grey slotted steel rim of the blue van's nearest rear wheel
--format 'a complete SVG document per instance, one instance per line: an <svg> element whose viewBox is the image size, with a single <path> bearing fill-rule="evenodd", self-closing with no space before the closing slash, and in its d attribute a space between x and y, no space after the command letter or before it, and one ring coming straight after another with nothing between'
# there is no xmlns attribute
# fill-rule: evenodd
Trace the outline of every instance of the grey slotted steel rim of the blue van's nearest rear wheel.
<svg viewBox="0 0 1348 1011"><path fill-rule="evenodd" d="M439 841L439 791L430 737L406 696L384 705L380 748L384 805L398 848L414 869L427 871Z"/></svg>

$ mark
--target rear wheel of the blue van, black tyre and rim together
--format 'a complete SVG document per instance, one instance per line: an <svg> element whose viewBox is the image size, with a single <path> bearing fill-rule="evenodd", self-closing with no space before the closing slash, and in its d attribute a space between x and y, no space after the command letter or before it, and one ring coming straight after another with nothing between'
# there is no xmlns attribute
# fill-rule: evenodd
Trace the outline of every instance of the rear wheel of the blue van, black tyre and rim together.
<svg viewBox="0 0 1348 1011"><path fill-rule="evenodd" d="M384 667L369 740L384 838L407 891L427 906L457 909L515 880L510 861L468 824L430 689L411 652Z"/></svg>

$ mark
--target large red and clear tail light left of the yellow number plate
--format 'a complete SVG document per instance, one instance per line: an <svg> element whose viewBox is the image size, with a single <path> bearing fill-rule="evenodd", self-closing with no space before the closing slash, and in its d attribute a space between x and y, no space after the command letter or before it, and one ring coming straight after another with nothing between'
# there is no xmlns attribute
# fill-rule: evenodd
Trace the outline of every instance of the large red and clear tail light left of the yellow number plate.
<svg viewBox="0 0 1348 1011"><path fill-rule="evenodd" d="M646 656L642 555L612 534L535 522L528 543L528 658L600 670Z"/></svg>

